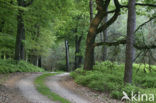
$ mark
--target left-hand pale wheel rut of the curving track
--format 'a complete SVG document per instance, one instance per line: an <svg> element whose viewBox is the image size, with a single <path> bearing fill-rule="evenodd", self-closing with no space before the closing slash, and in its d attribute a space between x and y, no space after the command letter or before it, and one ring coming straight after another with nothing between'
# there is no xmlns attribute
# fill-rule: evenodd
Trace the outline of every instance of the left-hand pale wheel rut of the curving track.
<svg viewBox="0 0 156 103"><path fill-rule="evenodd" d="M21 79L17 84L17 88L21 91L22 95L28 99L31 103L58 103L58 102L53 102L49 100L46 96L43 96L40 94L35 86L34 86L34 79L38 76L40 76L41 73L39 74L31 74L23 79Z"/></svg>

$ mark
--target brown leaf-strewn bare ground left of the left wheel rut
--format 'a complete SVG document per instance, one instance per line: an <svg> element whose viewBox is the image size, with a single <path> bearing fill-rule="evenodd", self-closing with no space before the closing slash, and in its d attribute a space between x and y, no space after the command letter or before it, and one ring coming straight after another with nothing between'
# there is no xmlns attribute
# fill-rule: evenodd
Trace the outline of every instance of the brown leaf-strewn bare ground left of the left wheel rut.
<svg viewBox="0 0 156 103"><path fill-rule="evenodd" d="M25 73L14 73L10 75L1 75L0 84L0 103L31 103L21 95L20 90L16 87L19 79L29 75Z"/></svg>

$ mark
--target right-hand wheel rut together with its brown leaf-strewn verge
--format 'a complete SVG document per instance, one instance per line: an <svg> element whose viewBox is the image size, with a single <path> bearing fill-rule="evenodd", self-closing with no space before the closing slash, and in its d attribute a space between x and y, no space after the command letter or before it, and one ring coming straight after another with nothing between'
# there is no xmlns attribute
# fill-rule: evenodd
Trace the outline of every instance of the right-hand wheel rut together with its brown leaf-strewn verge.
<svg viewBox="0 0 156 103"><path fill-rule="evenodd" d="M118 100L111 99L108 94L78 85L69 73L48 77L46 85L52 92L66 98L71 103L121 103Z"/></svg>

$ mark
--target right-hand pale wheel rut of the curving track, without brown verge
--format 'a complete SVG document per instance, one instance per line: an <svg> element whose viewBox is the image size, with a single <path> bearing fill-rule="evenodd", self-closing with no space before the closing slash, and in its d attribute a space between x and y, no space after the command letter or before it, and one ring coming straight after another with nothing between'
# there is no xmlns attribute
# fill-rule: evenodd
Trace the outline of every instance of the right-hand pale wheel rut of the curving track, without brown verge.
<svg viewBox="0 0 156 103"><path fill-rule="evenodd" d="M75 92L66 86L63 85L61 81L65 82L65 78L69 76L69 73L62 73L55 76L50 76L46 80L46 85L52 92L55 92L56 94L60 95L63 98L66 98L71 103L92 103L92 101L79 94L78 92Z"/></svg>

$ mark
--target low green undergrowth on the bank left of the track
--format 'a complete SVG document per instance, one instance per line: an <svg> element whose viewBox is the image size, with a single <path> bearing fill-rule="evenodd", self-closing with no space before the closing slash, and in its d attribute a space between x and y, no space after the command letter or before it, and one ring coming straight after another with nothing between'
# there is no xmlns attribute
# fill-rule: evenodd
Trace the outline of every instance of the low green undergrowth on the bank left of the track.
<svg viewBox="0 0 156 103"><path fill-rule="evenodd" d="M42 68L36 67L25 61L0 60L0 74L13 72L43 72Z"/></svg>

